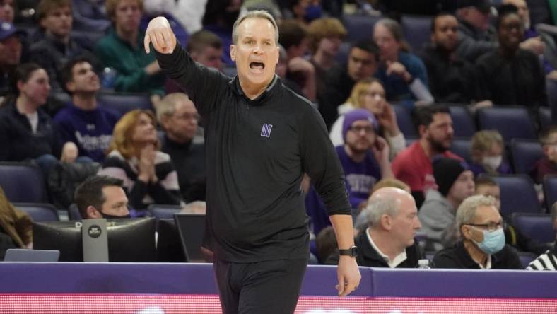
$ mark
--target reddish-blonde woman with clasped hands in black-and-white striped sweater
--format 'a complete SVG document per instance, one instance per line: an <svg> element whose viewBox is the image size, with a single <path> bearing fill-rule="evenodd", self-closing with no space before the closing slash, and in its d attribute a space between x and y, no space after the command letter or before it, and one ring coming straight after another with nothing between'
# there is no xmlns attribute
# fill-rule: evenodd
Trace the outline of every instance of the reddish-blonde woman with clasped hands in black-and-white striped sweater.
<svg viewBox="0 0 557 314"><path fill-rule="evenodd" d="M156 118L151 110L131 110L116 124L110 153L98 174L124 181L129 204L180 204L178 176L170 156L158 151Z"/></svg>

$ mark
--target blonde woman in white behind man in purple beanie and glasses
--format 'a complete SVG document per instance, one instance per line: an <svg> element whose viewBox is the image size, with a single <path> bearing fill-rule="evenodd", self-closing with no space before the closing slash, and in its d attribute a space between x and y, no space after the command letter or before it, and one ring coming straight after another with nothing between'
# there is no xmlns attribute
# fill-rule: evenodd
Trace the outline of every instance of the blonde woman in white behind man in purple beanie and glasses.
<svg viewBox="0 0 557 314"><path fill-rule="evenodd" d="M344 144L342 138L342 123L344 122L344 114L354 109L365 109L373 113L377 122L379 122L378 134L383 137L390 147L390 159L397 156L399 151L406 148L406 140L404 134L400 132L397 124L397 116L394 110L385 101L385 89L378 79L363 79L354 85L350 98L346 103L339 106L339 117L331 127L331 141L334 146Z"/></svg>

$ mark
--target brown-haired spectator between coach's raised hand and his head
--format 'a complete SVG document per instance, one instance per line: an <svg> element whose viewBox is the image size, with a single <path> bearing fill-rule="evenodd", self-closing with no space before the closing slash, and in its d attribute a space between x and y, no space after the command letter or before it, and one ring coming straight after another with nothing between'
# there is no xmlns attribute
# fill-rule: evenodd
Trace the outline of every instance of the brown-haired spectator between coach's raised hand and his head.
<svg viewBox="0 0 557 314"><path fill-rule="evenodd" d="M209 30L199 30L193 33L187 41L186 50L194 61L223 71L223 41ZM166 81L165 91L168 94L182 92L177 83L170 79Z"/></svg>

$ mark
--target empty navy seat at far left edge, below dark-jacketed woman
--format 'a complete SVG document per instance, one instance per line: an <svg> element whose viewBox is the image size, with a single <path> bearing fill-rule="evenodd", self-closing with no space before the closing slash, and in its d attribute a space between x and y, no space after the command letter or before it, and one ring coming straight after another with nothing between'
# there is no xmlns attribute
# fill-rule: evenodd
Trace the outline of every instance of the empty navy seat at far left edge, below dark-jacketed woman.
<svg viewBox="0 0 557 314"><path fill-rule="evenodd" d="M48 203L45 177L31 163L0 163L0 186L13 203Z"/></svg>

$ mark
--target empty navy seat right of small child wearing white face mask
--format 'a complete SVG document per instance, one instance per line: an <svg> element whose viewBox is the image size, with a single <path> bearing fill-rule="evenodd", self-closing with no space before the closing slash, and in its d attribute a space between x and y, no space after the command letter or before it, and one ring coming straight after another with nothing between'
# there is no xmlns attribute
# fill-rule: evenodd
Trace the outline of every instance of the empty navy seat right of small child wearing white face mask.
<svg viewBox="0 0 557 314"><path fill-rule="evenodd" d="M528 174L534 163L544 156L544 150L538 141L512 139L510 141L510 155L515 173Z"/></svg>

